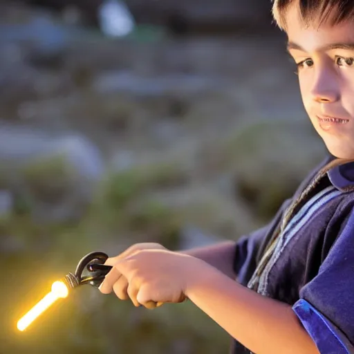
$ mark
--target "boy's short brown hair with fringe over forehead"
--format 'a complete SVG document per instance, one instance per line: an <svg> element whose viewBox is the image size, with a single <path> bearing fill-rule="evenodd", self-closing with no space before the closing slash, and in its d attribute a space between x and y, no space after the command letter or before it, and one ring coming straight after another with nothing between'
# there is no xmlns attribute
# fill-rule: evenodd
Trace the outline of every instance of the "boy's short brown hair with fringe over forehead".
<svg viewBox="0 0 354 354"><path fill-rule="evenodd" d="M331 17L332 25L354 18L353 0L273 0L273 18L282 30L286 30L286 10L289 6L295 5L295 2L306 25L311 21L319 21L321 24L328 19L333 9L336 13Z"/></svg>

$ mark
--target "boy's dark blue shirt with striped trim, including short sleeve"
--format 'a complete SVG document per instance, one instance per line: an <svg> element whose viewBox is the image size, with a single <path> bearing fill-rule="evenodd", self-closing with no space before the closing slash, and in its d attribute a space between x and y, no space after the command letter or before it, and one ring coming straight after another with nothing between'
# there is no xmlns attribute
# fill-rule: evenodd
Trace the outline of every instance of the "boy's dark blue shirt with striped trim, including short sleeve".
<svg viewBox="0 0 354 354"><path fill-rule="evenodd" d="M244 286L257 283L260 294L292 306L320 353L354 354L354 162L328 169L284 223L292 202L336 161L326 158L268 225L239 239L234 272ZM272 256L264 262L276 230ZM251 352L234 340L232 353Z"/></svg>

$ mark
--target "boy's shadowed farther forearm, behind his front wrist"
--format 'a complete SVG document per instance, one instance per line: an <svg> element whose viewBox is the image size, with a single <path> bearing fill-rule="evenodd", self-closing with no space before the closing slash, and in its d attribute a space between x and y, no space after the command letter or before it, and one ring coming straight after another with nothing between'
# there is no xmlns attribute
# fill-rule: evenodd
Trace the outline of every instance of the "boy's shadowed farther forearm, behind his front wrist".
<svg viewBox="0 0 354 354"><path fill-rule="evenodd" d="M233 269L235 255L234 241L224 241L215 245L209 245L201 248L192 248L191 250L180 252L209 263L231 279L236 277Z"/></svg>

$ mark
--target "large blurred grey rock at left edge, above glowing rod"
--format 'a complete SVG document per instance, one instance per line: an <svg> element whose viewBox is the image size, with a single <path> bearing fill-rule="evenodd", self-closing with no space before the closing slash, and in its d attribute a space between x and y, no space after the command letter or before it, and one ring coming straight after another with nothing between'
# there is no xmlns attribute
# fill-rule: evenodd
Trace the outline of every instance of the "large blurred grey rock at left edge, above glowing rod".
<svg viewBox="0 0 354 354"><path fill-rule="evenodd" d="M79 217L104 171L100 152L82 136L14 127L0 127L0 165L2 178L46 221Z"/></svg>

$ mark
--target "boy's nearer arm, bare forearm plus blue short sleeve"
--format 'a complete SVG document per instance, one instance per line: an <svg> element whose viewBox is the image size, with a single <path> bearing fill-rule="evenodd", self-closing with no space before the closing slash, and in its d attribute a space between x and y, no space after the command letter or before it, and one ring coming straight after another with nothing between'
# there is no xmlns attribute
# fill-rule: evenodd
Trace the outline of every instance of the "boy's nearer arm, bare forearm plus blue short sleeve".
<svg viewBox="0 0 354 354"><path fill-rule="evenodd" d="M344 208L338 209L346 214ZM254 353L354 353L351 205L346 212L340 223L339 216L333 216L336 228L326 236L334 238L334 244L316 277L301 288L294 306L263 297L214 268L193 277L187 297Z"/></svg>

